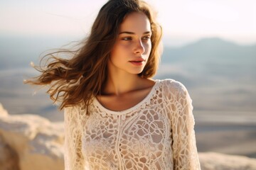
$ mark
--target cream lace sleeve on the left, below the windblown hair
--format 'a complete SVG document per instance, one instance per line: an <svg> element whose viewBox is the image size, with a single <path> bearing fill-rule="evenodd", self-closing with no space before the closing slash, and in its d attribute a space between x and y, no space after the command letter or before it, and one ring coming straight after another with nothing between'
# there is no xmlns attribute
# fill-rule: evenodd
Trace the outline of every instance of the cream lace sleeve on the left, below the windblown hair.
<svg viewBox="0 0 256 170"><path fill-rule="evenodd" d="M65 170L82 170L82 142L81 142L81 128L78 120L78 109L75 107L68 107L64 109L64 160Z"/></svg>

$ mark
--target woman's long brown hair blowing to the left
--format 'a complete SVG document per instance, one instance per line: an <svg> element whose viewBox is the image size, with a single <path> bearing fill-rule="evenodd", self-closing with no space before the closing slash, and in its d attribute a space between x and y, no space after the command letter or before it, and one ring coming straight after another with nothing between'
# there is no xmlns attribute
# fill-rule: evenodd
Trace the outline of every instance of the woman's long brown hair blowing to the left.
<svg viewBox="0 0 256 170"><path fill-rule="evenodd" d="M60 101L60 109L84 101L90 104L93 96L101 93L107 80L107 61L117 40L119 26L132 12L144 13L151 23L151 54L139 77L150 78L156 74L159 64L161 26L156 23L156 13L141 0L110 0L102 6L92 25L90 35L78 50L58 50L44 57L48 60L35 67L41 74L26 84L48 85L48 94L54 102ZM71 54L66 59L56 55Z"/></svg>

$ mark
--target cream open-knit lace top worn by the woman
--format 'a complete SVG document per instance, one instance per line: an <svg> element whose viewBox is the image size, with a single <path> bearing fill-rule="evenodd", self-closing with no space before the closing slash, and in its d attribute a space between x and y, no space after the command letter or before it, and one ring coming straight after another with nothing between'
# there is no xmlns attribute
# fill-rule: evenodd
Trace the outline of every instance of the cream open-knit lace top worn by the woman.
<svg viewBox="0 0 256 170"><path fill-rule="evenodd" d="M65 108L65 170L201 169L191 98L173 79L156 80L150 93L125 111L95 98Z"/></svg>

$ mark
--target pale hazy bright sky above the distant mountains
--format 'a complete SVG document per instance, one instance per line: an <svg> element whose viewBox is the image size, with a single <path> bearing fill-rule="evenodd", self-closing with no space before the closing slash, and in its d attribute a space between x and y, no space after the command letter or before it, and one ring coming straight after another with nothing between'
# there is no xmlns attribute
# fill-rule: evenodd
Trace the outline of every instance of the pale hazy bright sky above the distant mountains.
<svg viewBox="0 0 256 170"><path fill-rule="evenodd" d="M255 0L148 0L173 45L218 36L256 42ZM84 36L106 0L0 0L0 34Z"/></svg>

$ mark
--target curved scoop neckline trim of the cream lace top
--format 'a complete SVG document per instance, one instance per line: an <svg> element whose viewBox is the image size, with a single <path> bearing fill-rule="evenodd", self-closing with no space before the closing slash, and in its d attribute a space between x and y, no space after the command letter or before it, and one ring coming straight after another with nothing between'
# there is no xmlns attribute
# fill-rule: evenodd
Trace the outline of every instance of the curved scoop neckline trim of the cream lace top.
<svg viewBox="0 0 256 170"><path fill-rule="evenodd" d="M127 108L124 109L123 111L112 111L108 108L105 108L104 106L102 106L102 104L100 103L100 101L97 100L97 98L95 97L93 100L94 105L98 106L99 108L102 109L102 111L105 111L107 113L112 113L112 114L124 114L124 113L129 113L130 111L136 110L137 108L139 108L139 106L142 106L143 103L145 103L149 98L151 98L151 96L153 95L154 90L156 89L156 86L159 83L159 79L154 80L155 84L154 86L151 87L151 90L149 91L149 94L146 95L146 97L144 97L142 99L142 101L139 101L139 103L137 103L136 105L132 106L131 108Z"/></svg>

